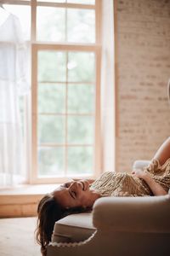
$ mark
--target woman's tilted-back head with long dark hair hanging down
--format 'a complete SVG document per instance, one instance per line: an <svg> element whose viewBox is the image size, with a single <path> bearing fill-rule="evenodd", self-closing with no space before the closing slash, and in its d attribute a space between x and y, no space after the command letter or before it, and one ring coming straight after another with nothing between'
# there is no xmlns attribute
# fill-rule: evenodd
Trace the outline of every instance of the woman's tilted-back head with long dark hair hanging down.
<svg viewBox="0 0 170 256"><path fill-rule="evenodd" d="M99 193L89 188L90 183L93 183L93 180L64 183L39 202L36 236L42 255L46 255L46 248L57 220L71 213L91 210L94 201L99 198Z"/></svg>

